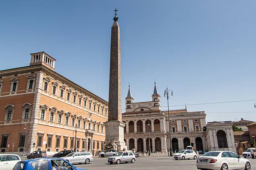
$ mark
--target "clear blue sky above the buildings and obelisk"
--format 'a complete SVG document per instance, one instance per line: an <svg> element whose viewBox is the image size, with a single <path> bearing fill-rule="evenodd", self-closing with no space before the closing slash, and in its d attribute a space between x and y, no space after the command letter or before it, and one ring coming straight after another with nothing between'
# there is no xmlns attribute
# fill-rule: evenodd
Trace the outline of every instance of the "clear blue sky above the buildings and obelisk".
<svg viewBox="0 0 256 170"><path fill-rule="evenodd" d="M56 72L108 100L115 7L121 33L122 98L205 110L207 121L256 121L255 0L3 0L0 70L27 66L30 53L56 58ZM167 110L167 107L162 107Z"/></svg>

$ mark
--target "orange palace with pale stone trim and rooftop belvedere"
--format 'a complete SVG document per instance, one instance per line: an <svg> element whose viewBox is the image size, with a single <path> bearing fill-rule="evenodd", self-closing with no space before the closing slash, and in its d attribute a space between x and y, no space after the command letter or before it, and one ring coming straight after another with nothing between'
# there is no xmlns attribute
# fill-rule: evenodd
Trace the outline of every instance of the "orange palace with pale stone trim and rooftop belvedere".
<svg viewBox="0 0 256 170"><path fill-rule="evenodd" d="M0 71L0 152L102 149L108 102L55 72L55 61L37 52L29 66Z"/></svg>

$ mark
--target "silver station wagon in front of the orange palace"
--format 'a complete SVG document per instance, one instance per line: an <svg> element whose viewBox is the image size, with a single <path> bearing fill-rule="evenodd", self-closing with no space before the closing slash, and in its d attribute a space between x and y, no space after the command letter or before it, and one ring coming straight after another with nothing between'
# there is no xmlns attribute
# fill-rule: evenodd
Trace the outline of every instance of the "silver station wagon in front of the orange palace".
<svg viewBox="0 0 256 170"><path fill-rule="evenodd" d="M64 160L69 161L69 163L85 163L88 164L93 161L93 156L89 152L77 152L70 153L69 155L62 157Z"/></svg>

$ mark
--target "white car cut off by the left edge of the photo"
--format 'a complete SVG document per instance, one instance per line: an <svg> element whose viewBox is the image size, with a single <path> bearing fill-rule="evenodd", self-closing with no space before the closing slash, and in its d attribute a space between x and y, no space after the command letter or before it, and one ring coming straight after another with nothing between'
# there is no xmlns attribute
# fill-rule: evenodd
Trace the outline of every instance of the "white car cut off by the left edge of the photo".
<svg viewBox="0 0 256 170"><path fill-rule="evenodd" d="M20 161L20 157L14 154L0 154L0 170L12 170Z"/></svg>

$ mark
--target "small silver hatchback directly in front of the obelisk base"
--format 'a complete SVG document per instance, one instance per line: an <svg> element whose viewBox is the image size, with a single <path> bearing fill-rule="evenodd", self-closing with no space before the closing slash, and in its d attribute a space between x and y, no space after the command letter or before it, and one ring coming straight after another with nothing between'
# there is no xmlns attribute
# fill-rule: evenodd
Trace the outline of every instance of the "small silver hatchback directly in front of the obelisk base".
<svg viewBox="0 0 256 170"><path fill-rule="evenodd" d="M111 156L108 158L108 163L113 164L120 164L120 162L128 163L135 163L136 157L131 151L121 151L118 152L115 156Z"/></svg>

